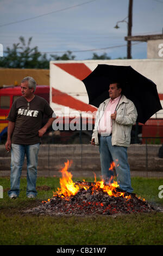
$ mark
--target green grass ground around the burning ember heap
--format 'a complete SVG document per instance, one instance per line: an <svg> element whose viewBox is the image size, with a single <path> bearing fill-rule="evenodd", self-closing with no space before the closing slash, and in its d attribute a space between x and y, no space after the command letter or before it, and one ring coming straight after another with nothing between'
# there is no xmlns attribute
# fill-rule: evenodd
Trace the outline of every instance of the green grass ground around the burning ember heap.
<svg viewBox="0 0 163 256"><path fill-rule="evenodd" d="M83 178L73 179L83 180ZM93 181L85 179L86 181ZM60 187L59 178L37 179L37 197L26 197L26 178L21 178L20 197L8 198L9 178L0 178L0 245L162 245L163 213L123 216L34 216L22 210L39 205ZM163 206L158 187L163 179L132 178L137 196ZM48 189L48 190L47 190Z"/></svg>

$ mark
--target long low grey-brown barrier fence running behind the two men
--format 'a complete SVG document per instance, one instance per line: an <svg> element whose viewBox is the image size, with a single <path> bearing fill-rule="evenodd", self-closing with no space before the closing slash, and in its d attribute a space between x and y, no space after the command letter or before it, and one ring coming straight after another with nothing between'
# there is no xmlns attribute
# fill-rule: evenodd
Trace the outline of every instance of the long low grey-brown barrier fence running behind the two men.
<svg viewBox="0 0 163 256"><path fill-rule="evenodd" d="M131 176L163 178L163 144L153 144L161 137L141 137L140 140L142 139L145 144L130 144L128 148ZM40 145L38 175L61 176L59 170L69 160L72 161L70 172L73 176L94 176L95 173L100 176L99 147L86 142L84 137L83 141L85 144L82 140L79 144L57 144L56 141L52 143L51 139L45 138L45 142ZM0 153L0 176L8 176L10 153L6 152L4 144L0 145ZM26 161L22 174L26 175Z"/></svg>

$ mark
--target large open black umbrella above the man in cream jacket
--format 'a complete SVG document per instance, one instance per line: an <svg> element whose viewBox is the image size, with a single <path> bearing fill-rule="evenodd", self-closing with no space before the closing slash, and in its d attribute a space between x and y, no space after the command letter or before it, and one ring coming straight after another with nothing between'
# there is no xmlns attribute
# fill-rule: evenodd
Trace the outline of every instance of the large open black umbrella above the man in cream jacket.
<svg viewBox="0 0 163 256"><path fill-rule="evenodd" d="M82 80L89 96L89 104L98 107L109 98L109 85L121 82L122 93L134 102L137 121L145 124L153 114L162 109L156 84L131 66L99 64Z"/></svg>

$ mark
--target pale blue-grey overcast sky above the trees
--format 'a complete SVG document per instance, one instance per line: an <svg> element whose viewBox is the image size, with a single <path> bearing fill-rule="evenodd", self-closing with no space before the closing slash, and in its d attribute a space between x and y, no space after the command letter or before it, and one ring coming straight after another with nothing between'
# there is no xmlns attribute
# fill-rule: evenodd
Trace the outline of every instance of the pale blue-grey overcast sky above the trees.
<svg viewBox="0 0 163 256"><path fill-rule="evenodd" d="M128 4L129 0L0 0L0 44L5 50L20 36L32 36L31 46L42 53L60 56L70 50L77 60L89 59L93 52L105 52L111 59L126 57L127 23L114 27L128 16ZM133 0L132 35L162 34L162 13L163 0ZM132 57L147 58L147 43L136 43Z"/></svg>

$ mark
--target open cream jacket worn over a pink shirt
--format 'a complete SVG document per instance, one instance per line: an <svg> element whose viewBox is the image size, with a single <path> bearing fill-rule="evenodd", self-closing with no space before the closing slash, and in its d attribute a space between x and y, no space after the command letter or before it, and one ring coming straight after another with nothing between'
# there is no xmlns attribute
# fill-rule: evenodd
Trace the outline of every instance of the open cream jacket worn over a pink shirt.
<svg viewBox="0 0 163 256"><path fill-rule="evenodd" d="M102 102L101 105L99 105L96 113L96 123L92 133L92 139L95 139L96 145L99 145L97 129L99 120L102 118L100 112L103 111L104 113L109 101L110 98ZM116 111L116 119L112 120L112 145L129 147L131 128L135 124L137 118L136 107L131 100L127 99L126 96L122 95Z"/></svg>

